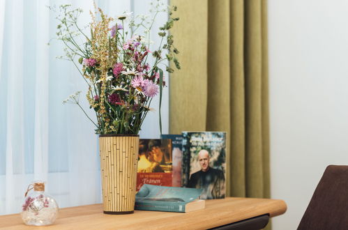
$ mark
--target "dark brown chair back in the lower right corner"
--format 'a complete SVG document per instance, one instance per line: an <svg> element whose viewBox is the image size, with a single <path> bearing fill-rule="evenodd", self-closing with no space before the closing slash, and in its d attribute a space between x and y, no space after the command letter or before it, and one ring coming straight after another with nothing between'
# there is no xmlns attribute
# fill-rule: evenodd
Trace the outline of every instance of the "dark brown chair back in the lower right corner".
<svg viewBox="0 0 348 230"><path fill-rule="evenodd" d="M329 165L324 171L298 230L348 229L348 166Z"/></svg>

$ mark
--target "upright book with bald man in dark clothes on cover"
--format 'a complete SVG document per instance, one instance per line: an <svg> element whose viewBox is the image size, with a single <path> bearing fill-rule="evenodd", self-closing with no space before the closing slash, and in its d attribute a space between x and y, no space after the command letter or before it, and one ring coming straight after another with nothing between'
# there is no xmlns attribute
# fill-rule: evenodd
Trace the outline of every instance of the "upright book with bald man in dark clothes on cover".
<svg viewBox="0 0 348 230"><path fill-rule="evenodd" d="M199 199L225 198L226 132L183 132L182 183Z"/></svg>

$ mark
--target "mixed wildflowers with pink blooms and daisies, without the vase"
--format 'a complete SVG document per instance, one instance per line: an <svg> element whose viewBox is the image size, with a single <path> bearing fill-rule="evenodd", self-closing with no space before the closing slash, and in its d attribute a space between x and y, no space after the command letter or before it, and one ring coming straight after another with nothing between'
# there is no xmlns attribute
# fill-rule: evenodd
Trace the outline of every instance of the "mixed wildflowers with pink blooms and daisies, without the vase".
<svg viewBox="0 0 348 230"><path fill-rule="evenodd" d="M179 51L169 34L169 29L179 20L172 17L176 7L168 8L159 0L151 4L153 16L149 20L144 15L133 18L130 13L114 19L96 8L96 12L91 13L91 23L82 29L78 24L81 9L71 9L70 5L59 7L56 35L64 43L66 52L61 58L72 61L84 78L88 86L86 98L96 113L96 121L81 107L81 91L64 102L79 105L96 126L97 134L137 134L146 114L151 111L151 100L158 94L161 104L162 89L166 84L159 65L163 64L167 72L173 72L173 68L165 65L173 61L174 66L180 68L176 58ZM159 29L158 48L150 50L150 31L160 12L168 12L169 20ZM90 36L86 35L87 27ZM138 34L141 29L143 34ZM84 40L82 43L81 39Z"/></svg>

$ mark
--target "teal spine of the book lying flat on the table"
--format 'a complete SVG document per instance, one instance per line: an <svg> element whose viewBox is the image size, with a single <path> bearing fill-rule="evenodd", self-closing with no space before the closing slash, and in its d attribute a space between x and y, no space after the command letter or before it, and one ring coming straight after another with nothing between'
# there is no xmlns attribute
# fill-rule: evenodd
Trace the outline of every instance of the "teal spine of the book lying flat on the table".
<svg viewBox="0 0 348 230"><path fill-rule="evenodd" d="M168 202L135 202L136 210L157 210L163 212L185 213L185 204Z"/></svg>

